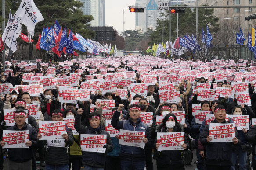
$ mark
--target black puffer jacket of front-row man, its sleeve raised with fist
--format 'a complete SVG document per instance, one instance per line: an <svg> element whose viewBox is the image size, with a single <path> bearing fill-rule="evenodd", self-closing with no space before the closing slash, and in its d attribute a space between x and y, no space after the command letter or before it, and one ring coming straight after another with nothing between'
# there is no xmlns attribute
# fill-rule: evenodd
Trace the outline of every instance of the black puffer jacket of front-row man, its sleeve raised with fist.
<svg viewBox="0 0 256 170"><path fill-rule="evenodd" d="M106 155L108 152L111 152L113 150L113 144L109 133L105 131L103 126L101 125L97 129L94 129L90 126L81 125L81 115L78 114L76 114L74 126L79 134L107 135L107 144L109 147L106 148L106 153L82 151L83 164L89 165L91 167L104 168L106 163Z"/></svg>

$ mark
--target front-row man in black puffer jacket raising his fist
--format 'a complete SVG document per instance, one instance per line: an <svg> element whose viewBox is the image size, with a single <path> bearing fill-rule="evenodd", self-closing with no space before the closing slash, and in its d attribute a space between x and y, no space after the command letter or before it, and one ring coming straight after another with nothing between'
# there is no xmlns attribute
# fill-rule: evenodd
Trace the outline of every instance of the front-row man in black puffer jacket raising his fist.
<svg viewBox="0 0 256 170"><path fill-rule="evenodd" d="M81 125L82 113L83 113L83 109L77 110L77 114L75 118L76 131L79 132L79 134L106 135L107 141L106 141L106 144L102 147L102 149L104 148L106 153L111 152L113 150L113 144L110 139L109 133L104 130L103 126L100 125L100 115L95 112L90 113L89 115L90 126L83 126ZM81 142L81 145L82 145L82 142ZM93 146L97 147L96 145L92 145L92 149L93 149ZM97 170L104 170L105 163L106 163L106 153L97 153L97 150L94 150L94 152L82 151L82 159L83 159L82 163L85 167L85 170L87 169L90 170L92 169L91 167L94 167L93 169L97 169Z"/></svg>

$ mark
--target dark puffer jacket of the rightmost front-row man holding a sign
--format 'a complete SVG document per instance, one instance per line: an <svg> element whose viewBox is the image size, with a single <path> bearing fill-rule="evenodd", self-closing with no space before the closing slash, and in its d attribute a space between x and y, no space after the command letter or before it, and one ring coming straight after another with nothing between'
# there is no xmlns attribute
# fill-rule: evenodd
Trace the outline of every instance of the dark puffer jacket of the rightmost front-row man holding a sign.
<svg viewBox="0 0 256 170"><path fill-rule="evenodd" d="M214 119L211 123L219 123ZM222 124L230 123L224 120ZM209 136L210 125L206 125L203 132L200 134L200 142L207 146L206 148L206 165L218 165L218 166L231 166L232 165L232 145L233 142L207 142L206 138ZM238 143L235 146L240 145L240 137L235 132L235 137L238 139Z"/></svg>

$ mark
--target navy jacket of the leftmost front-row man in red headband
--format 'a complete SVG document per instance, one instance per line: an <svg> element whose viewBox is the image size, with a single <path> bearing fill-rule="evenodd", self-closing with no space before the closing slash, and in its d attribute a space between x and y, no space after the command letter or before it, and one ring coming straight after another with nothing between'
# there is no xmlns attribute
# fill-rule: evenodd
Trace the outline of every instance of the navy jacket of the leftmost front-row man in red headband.
<svg viewBox="0 0 256 170"><path fill-rule="evenodd" d="M8 157L9 157L9 160L17 163L27 162L31 160L32 150L37 145L36 129L28 126L27 123L25 122L25 125L21 129L19 129L18 126L15 124L14 126L7 128L6 130L13 130L13 131L29 130L29 140L32 142L32 146L30 146L29 148L9 148Z"/></svg>

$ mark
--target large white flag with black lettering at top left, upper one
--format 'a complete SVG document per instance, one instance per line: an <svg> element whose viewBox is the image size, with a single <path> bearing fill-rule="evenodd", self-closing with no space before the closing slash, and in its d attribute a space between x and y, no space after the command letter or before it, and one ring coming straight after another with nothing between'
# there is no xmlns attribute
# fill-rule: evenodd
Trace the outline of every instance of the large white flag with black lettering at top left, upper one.
<svg viewBox="0 0 256 170"><path fill-rule="evenodd" d="M44 20L33 0L22 0L16 14L21 18L22 24L27 26L27 30L32 37L35 33L36 24Z"/></svg>

